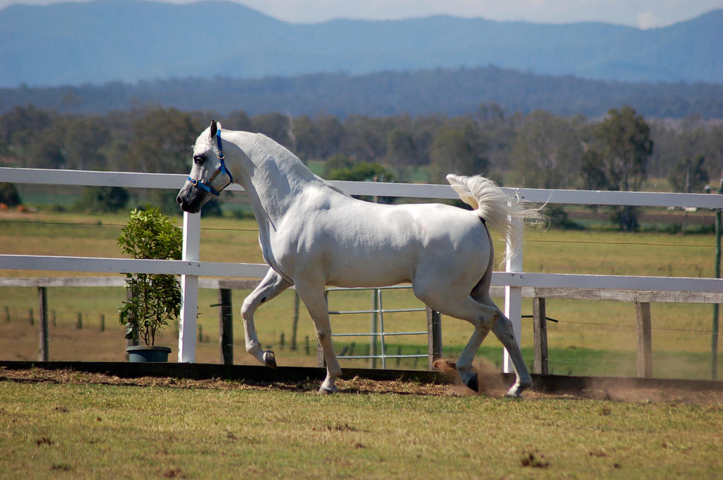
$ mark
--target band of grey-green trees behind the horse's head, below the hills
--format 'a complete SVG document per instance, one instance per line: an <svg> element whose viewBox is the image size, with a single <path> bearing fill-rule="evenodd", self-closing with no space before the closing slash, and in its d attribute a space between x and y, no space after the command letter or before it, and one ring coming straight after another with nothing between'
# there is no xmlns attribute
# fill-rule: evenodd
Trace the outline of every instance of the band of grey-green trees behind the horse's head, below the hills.
<svg viewBox="0 0 723 480"><path fill-rule="evenodd" d="M677 192L702 192L723 164L723 124L699 116L645 119L620 106L588 119L510 113L497 103L461 116L343 119L159 106L80 115L16 106L0 115L0 163L187 173L191 146L210 118L226 129L267 134L304 162L325 161L329 179L444 183L455 172L531 188L639 190L654 178L667 179ZM634 218L621 215L621 225L634 228Z"/></svg>

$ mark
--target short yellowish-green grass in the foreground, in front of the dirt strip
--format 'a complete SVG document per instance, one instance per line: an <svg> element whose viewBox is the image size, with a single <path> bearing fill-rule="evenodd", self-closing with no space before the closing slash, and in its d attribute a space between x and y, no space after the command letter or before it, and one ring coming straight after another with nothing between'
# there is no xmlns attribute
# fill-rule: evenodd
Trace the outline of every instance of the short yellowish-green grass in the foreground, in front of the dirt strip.
<svg viewBox="0 0 723 480"><path fill-rule="evenodd" d="M0 382L3 479L712 479L720 404Z"/></svg>

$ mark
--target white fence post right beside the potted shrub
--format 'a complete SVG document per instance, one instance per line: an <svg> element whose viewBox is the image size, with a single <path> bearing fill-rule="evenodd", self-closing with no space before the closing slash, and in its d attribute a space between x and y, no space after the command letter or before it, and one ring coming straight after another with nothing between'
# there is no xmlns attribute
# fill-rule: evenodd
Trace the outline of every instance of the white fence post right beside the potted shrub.
<svg viewBox="0 0 723 480"><path fill-rule="evenodd" d="M200 260L201 214L183 214L183 260ZM196 315L198 276L181 275L181 325L179 325L179 362L196 360Z"/></svg>

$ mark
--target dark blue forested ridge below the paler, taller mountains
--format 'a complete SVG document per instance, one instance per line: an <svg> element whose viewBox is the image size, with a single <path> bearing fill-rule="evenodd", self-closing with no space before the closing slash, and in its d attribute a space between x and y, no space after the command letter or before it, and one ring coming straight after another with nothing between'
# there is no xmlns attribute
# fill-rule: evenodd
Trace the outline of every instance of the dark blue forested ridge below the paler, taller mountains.
<svg viewBox="0 0 723 480"><path fill-rule="evenodd" d="M446 112L456 116L474 113L482 100L525 114L539 108L556 115L580 113L596 118L605 116L610 106L630 105L645 116L657 118L682 119L696 113L723 118L723 85L719 84L588 80L492 65L361 75L319 73L0 88L0 112L32 103L45 110L85 115L152 104L182 111L208 108L223 114L241 108L252 116L269 111L291 116L329 113L339 118L354 113L380 117Z"/></svg>

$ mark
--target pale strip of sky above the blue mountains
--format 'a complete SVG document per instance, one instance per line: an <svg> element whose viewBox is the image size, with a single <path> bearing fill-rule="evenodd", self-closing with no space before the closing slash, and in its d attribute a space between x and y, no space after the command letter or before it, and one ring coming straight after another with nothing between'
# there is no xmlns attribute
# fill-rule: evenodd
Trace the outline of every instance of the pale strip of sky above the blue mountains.
<svg viewBox="0 0 723 480"><path fill-rule="evenodd" d="M67 0L0 0L52 4ZM75 0L89 1L89 0ZM190 3L197 0L163 0ZM394 20L448 14L534 23L606 22L639 28L665 27L714 9L723 0L232 0L286 22L316 23L335 18Z"/></svg>

